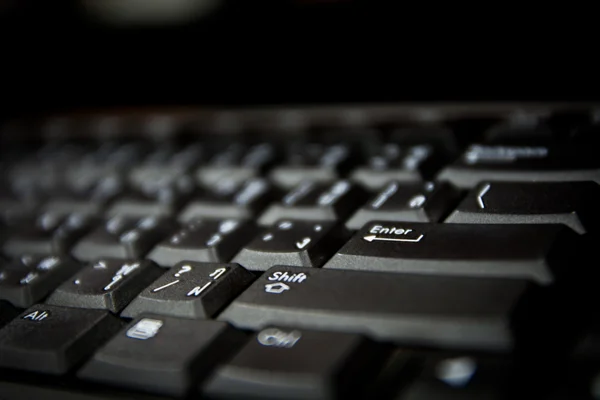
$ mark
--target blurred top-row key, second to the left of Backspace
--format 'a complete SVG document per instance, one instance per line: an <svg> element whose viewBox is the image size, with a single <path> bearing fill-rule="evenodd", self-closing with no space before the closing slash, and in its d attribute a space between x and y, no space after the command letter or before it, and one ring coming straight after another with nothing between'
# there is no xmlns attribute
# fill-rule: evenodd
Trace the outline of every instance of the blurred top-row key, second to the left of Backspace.
<svg viewBox="0 0 600 400"><path fill-rule="evenodd" d="M304 181L331 183L345 175L352 165L352 151L347 144L320 143L291 145L287 163L271 171L270 179L284 189Z"/></svg>

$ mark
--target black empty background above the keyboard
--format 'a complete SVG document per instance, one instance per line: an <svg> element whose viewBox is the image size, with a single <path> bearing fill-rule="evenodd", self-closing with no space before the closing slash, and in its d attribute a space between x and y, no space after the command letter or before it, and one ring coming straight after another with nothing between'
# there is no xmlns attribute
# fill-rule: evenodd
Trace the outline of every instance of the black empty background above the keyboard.
<svg viewBox="0 0 600 400"><path fill-rule="evenodd" d="M376 1L233 0L190 23L115 27L87 18L77 1L1 7L1 113L9 117L140 106L598 100L585 54L569 45L562 55L551 31L519 36L501 17L466 25L445 10Z"/></svg>

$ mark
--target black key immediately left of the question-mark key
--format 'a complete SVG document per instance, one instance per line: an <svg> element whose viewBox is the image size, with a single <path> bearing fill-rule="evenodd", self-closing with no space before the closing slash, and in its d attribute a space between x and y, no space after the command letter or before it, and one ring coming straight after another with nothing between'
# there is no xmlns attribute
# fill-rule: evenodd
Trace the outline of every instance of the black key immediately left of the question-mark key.
<svg viewBox="0 0 600 400"><path fill-rule="evenodd" d="M46 302L118 313L161 272L148 260L101 259L64 282Z"/></svg>

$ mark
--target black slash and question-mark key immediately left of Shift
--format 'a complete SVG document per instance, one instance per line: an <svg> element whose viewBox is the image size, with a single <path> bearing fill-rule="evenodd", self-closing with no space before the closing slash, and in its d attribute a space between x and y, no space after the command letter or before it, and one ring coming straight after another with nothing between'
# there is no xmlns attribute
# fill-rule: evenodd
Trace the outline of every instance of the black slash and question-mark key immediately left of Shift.
<svg viewBox="0 0 600 400"><path fill-rule="evenodd" d="M211 318L253 280L254 275L237 264L184 261L144 289L121 316L153 313Z"/></svg>

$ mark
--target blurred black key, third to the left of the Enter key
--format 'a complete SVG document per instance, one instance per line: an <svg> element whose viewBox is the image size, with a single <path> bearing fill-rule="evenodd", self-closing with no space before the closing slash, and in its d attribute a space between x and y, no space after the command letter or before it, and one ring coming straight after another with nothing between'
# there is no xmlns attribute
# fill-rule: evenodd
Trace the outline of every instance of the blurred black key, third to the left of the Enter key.
<svg viewBox="0 0 600 400"><path fill-rule="evenodd" d="M170 219L156 216L112 217L79 241L72 253L82 261L102 257L140 258L175 227Z"/></svg>

